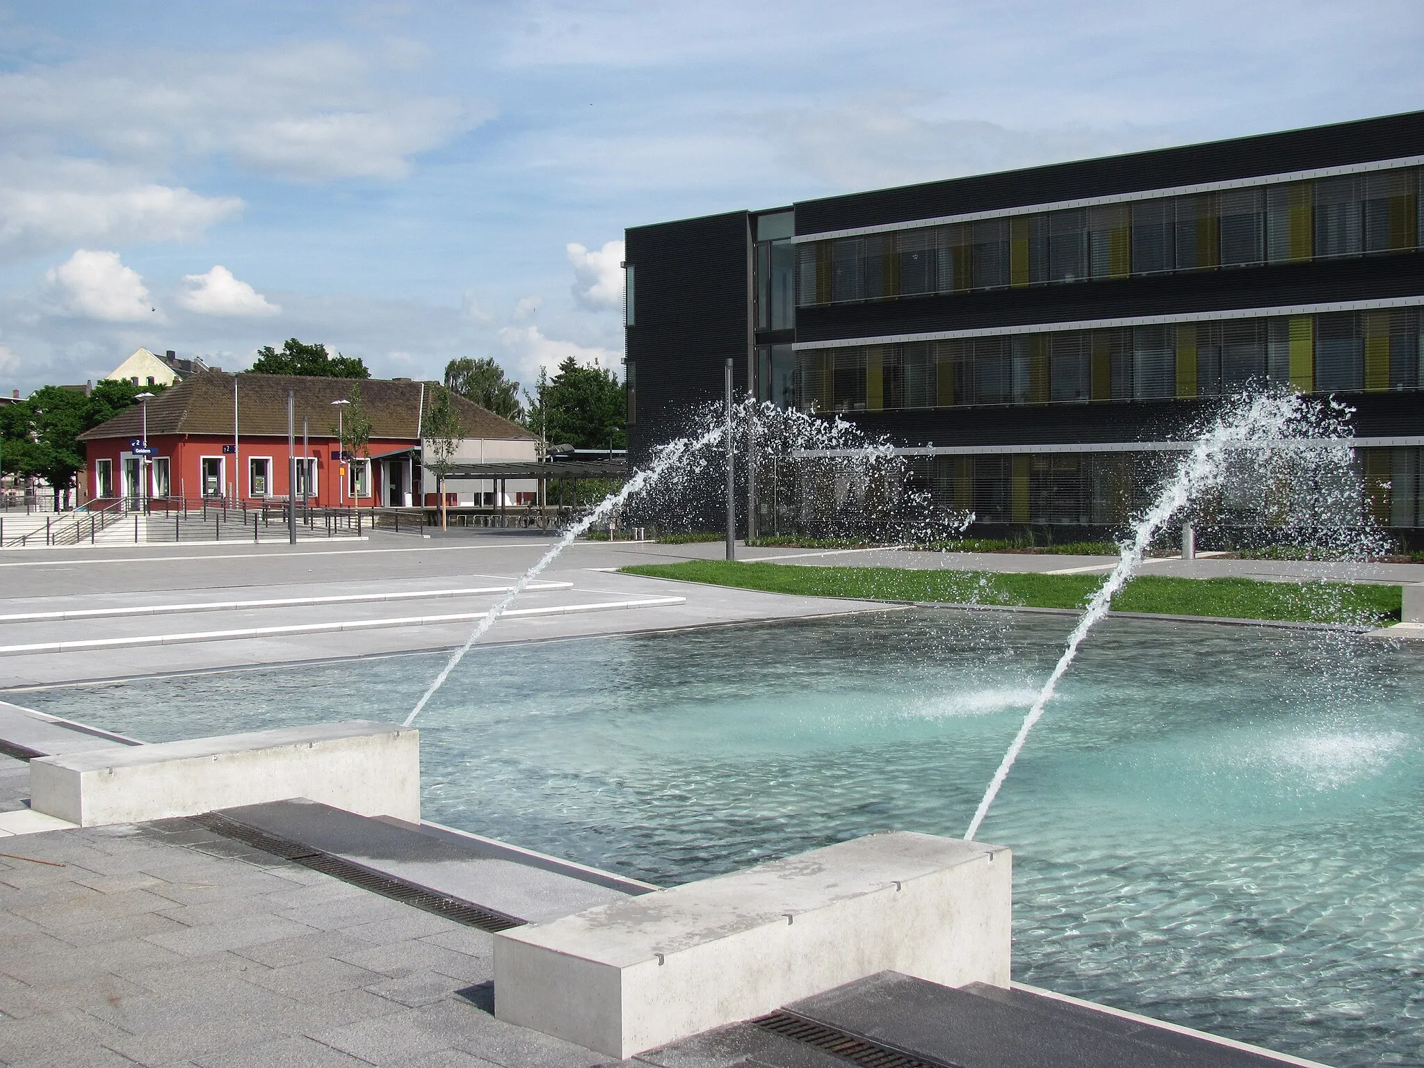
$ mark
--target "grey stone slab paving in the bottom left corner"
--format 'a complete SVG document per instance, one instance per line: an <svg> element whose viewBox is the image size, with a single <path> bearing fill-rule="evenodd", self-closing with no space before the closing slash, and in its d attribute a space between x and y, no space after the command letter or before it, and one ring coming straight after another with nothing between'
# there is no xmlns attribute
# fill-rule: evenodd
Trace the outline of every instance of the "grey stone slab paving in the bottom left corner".
<svg viewBox="0 0 1424 1068"><path fill-rule="evenodd" d="M491 980L484 931L214 840L165 820L0 857L0 1062L607 1061L461 993Z"/></svg>

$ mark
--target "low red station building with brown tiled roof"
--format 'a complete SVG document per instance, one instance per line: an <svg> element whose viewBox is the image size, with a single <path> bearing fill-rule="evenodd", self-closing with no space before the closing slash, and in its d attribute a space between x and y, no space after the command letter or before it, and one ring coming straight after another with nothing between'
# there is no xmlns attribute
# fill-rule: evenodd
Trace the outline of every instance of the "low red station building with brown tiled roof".
<svg viewBox="0 0 1424 1068"><path fill-rule="evenodd" d="M339 420L345 423L357 409L350 403L357 387L370 443L365 456L343 459L336 431ZM295 456L299 501L322 507L436 504L434 480L423 477L420 467L422 424L434 393L436 383L410 379L192 375L81 434L88 467L80 497L97 504L121 496L286 500ZM474 447L481 454L534 460L535 439L524 427L464 397L451 394L450 402L464 431L461 451ZM430 493L423 493L426 481Z"/></svg>

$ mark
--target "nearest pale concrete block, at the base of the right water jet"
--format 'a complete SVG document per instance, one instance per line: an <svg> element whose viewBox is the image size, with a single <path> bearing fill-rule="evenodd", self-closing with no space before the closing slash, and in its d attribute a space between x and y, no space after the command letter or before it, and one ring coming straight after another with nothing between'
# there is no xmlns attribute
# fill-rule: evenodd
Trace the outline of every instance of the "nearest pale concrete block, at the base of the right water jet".
<svg viewBox="0 0 1424 1068"><path fill-rule="evenodd" d="M894 832L494 936L494 1012L628 1058L879 971L1008 985L1007 849Z"/></svg>

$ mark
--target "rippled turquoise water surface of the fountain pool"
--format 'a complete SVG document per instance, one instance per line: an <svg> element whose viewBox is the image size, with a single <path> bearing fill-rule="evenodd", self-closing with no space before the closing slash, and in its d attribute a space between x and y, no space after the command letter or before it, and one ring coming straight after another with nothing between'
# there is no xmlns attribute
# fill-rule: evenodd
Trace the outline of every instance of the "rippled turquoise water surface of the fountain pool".
<svg viewBox="0 0 1424 1068"><path fill-rule="evenodd" d="M883 612L477 648L422 715L429 819L675 883L960 836L1071 625ZM34 691L148 740L400 719L436 655ZM1424 649L1108 619L981 839L1015 978L1337 1065L1424 1064Z"/></svg>

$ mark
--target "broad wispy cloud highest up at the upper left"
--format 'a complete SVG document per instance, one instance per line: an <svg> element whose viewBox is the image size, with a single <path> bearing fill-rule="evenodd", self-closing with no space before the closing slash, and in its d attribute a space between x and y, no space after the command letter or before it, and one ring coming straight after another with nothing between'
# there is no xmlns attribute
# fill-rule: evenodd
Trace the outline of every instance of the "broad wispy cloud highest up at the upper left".
<svg viewBox="0 0 1424 1068"><path fill-rule="evenodd" d="M410 157L490 118L488 105L404 90L390 54L346 44L81 60L0 75L0 132L27 155L87 142L154 165L225 155L278 178L403 178Z"/></svg>

